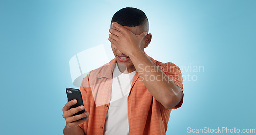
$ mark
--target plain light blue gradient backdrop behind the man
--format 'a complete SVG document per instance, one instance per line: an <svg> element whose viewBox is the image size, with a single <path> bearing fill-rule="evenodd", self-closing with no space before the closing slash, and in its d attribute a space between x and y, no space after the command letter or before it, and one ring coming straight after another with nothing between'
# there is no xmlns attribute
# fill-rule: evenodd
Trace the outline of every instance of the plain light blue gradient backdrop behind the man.
<svg viewBox="0 0 256 135"><path fill-rule="evenodd" d="M123 7L150 20L148 55L204 67L182 71L197 80L184 80L184 103L172 111L167 134L256 128L256 1L10 0L0 1L0 134L62 134L64 89L74 87L69 60L99 44L110 50L110 21Z"/></svg>

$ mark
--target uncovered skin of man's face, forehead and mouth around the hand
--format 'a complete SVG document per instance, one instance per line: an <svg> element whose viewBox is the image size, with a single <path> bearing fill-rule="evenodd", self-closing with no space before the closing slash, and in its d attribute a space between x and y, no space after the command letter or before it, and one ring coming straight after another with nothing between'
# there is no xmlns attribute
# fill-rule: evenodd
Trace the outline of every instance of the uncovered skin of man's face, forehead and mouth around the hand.
<svg viewBox="0 0 256 135"><path fill-rule="evenodd" d="M135 27L124 26L124 27L126 29L130 30L135 35L140 35L142 32L144 32L143 30L140 29L139 26L135 26ZM113 27L111 26L111 28L113 28ZM116 61L119 65L120 64L125 65L129 73L136 70L131 59L127 58L127 55L125 55L121 51L119 51L118 48L112 43L111 43L111 48L116 57ZM140 46L140 49L144 51L143 44Z"/></svg>

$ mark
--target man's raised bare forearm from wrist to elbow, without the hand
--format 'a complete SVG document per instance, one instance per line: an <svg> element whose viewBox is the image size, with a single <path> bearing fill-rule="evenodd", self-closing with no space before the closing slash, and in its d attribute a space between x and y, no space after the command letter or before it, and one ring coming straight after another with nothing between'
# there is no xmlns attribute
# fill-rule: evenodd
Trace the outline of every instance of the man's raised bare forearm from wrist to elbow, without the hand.
<svg viewBox="0 0 256 135"><path fill-rule="evenodd" d="M129 57L148 91L166 109L172 109L181 101L183 96L181 88L157 68L143 51L138 50Z"/></svg>

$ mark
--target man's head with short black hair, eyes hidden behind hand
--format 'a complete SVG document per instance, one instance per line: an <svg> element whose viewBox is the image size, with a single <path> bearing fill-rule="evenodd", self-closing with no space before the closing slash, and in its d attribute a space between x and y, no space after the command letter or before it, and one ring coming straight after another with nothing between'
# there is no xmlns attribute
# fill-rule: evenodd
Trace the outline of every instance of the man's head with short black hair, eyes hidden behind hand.
<svg viewBox="0 0 256 135"><path fill-rule="evenodd" d="M114 27L113 22L117 22L117 24L120 26L123 26L124 29L116 29L116 25L114 23L114 25L116 27ZM146 48L148 46L148 44L151 41L151 34L147 34L148 33L148 19L145 15L145 13L139 9L136 8L123 8L119 11L117 11L114 16L112 17L111 20L111 29L110 29L110 35L109 40L111 41L111 48L112 51L116 57L117 63L118 63L118 67L119 70L120 68L122 68L122 70L120 70L121 72L123 72L123 69L127 68L127 71L130 73L135 69L130 57L129 57L129 50L130 50L130 45L132 47L132 42L137 42L138 47L140 48L140 50L144 51L144 48ZM127 30L129 30L133 35L135 35L136 38L132 38L134 36L128 36L127 35ZM124 32L126 31L126 32ZM126 36L117 36L118 33L121 34L122 32L126 33ZM115 33L115 34L114 34ZM128 32L129 33L129 32ZM130 37L130 39L128 39ZM127 41L127 42L122 42L122 44L120 44L120 39L118 39L119 41L117 42L118 46L121 47L118 48L118 46L116 46L115 41L117 41L117 38L122 38L122 41ZM125 39L126 38L126 39ZM139 39L140 38L140 39ZM116 40L115 40L116 39ZM140 40L138 42L138 39ZM131 43L131 44L129 44ZM126 48L126 49L124 49ZM120 50L122 51L120 51ZM127 54L125 54L125 52ZM133 51L134 52L134 51ZM122 67L120 67L122 66Z"/></svg>

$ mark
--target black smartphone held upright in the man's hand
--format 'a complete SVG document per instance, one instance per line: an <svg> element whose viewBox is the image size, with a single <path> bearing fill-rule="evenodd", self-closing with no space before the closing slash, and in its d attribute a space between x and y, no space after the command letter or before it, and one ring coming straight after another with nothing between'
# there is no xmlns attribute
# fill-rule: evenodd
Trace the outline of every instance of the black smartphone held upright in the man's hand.
<svg viewBox="0 0 256 135"><path fill-rule="evenodd" d="M78 106L83 105L82 94L81 94L81 92L80 92L79 89L66 88L66 94L67 94L67 97L68 97L68 101L71 101L71 100L73 100L73 99L76 99L76 100L77 100L77 103L74 104L74 105L72 105L72 106L70 107L70 109L71 109L71 108L76 108L76 107L78 107ZM81 111L75 113L73 116L82 114L82 113L84 113L84 112L85 112L85 110L81 110ZM86 119L86 117L83 117L82 119Z"/></svg>

